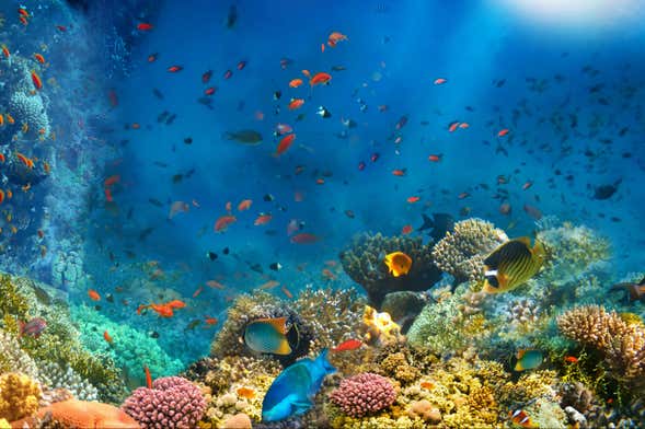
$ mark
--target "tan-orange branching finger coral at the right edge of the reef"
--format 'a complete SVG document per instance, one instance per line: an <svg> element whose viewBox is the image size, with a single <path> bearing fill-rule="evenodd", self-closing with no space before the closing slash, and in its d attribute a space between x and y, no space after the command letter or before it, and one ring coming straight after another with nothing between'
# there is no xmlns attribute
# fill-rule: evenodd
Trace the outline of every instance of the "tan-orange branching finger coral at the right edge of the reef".
<svg viewBox="0 0 645 429"><path fill-rule="evenodd" d="M643 387L645 384L645 327L626 323L617 312L585 305L557 317L557 327L568 338L601 351L615 379Z"/></svg>

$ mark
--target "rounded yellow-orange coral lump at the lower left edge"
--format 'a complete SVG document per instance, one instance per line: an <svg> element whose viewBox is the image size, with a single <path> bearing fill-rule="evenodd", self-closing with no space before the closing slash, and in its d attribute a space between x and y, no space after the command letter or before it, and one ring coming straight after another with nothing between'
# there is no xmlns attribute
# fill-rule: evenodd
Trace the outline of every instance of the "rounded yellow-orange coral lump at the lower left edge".
<svg viewBox="0 0 645 429"><path fill-rule="evenodd" d="M0 416L10 421L31 416L38 409L41 386L27 375L0 375Z"/></svg>

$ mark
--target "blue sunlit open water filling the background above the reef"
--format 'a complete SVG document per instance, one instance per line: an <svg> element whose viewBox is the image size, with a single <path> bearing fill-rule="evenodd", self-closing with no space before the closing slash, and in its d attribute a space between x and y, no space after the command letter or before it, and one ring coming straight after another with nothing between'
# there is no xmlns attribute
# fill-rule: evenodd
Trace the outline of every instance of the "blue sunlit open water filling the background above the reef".
<svg viewBox="0 0 645 429"><path fill-rule="evenodd" d="M53 281L57 252L73 250L88 282L58 286L77 302L88 301L88 287L113 294L104 315L156 332L183 363L207 353L219 328L189 328L192 321L221 322L234 297L269 280L280 297L306 285L349 286L341 270L323 277L325 262L356 233L396 235L411 225L424 234L422 213L479 217L521 236L535 229L530 206L610 237L617 279L642 270L643 7L608 7L596 22L580 11L531 20L502 1L30 1L34 18L24 26L19 5L2 2L0 42L22 54L46 44L44 80L58 81L44 89L58 138L47 154L30 153L71 173L54 169L31 190L35 199L14 204L34 208L34 221L12 239L21 256L2 268ZM137 30L142 22L152 28ZM347 39L332 47L332 32ZM311 86L302 70L332 80ZM289 88L297 78L304 83ZM215 94L205 95L210 86ZM304 105L291 112L291 98ZM331 117L318 115L320 106ZM169 115L176 118L165 124ZM454 121L468 127L450 131ZM278 123L297 138L275 156ZM262 142L226 138L244 129ZM104 181L113 175L108 201ZM615 193L599 199L604 185ZM237 210L244 199L251 208ZM169 219L174 201L188 210ZM228 201L237 222L215 232ZM260 213L270 221L254 225ZM47 257L34 241L41 219L49 219ZM292 243L292 220L318 240ZM136 314L175 298L189 305L173 318Z"/></svg>

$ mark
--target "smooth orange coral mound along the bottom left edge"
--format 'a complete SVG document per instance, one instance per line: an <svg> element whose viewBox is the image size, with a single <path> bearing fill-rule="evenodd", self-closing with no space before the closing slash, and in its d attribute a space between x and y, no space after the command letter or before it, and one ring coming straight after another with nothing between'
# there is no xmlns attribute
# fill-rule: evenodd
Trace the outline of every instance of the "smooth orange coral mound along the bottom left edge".
<svg viewBox="0 0 645 429"><path fill-rule="evenodd" d="M120 408L110 404L95 402L69 399L54 403L48 407L41 408L37 417L43 418L51 413L53 420L62 424L65 427L73 428L138 428L139 424ZM22 428L31 419L12 421L12 428Z"/></svg>

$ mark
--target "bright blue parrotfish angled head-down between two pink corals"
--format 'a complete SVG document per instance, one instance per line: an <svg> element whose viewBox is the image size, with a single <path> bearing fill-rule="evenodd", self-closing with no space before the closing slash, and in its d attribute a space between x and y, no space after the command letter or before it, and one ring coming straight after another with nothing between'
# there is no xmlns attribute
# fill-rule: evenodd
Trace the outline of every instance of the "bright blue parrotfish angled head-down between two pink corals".
<svg viewBox="0 0 645 429"><path fill-rule="evenodd" d="M268 387L262 403L262 420L278 421L299 416L312 407L324 378L336 372L324 349L315 359L301 359L287 367Z"/></svg>

